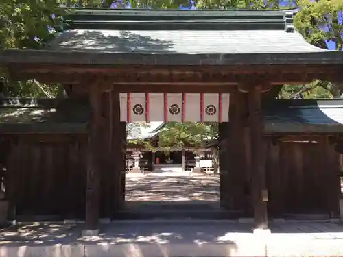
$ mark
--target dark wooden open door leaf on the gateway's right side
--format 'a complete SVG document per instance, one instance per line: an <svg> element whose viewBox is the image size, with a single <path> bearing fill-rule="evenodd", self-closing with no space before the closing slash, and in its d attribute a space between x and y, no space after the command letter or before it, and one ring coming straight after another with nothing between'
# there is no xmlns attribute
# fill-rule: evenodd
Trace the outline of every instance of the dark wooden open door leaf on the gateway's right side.
<svg viewBox="0 0 343 257"><path fill-rule="evenodd" d="M244 125L246 111L244 93L230 95L229 122L221 123L220 138L220 201L226 209L244 212L244 180L246 178L246 154Z"/></svg>

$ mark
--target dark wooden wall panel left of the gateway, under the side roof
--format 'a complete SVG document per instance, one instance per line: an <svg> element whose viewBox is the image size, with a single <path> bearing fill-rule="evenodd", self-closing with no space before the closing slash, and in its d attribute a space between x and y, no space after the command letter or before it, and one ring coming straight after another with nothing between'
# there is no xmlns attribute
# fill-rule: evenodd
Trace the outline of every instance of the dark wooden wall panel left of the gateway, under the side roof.
<svg viewBox="0 0 343 257"><path fill-rule="evenodd" d="M39 137L39 136L37 136ZM10 147L8 198L16 215L82 218L86 192L86 142L36 143Z"/></svg>

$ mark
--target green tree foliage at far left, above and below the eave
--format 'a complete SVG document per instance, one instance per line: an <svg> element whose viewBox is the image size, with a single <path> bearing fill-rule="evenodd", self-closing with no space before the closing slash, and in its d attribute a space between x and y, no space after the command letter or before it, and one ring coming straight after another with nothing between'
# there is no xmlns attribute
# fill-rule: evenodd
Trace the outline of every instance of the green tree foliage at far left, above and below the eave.
<svg viewBox="0 0 343 257"><path fill-rule="evenodd" d="M58 1L3 0L0 3L0 49L42 47L63 29ZM35 80L13 82L0 71L1 91L8 96L56 96L57 85Z"/></svg>

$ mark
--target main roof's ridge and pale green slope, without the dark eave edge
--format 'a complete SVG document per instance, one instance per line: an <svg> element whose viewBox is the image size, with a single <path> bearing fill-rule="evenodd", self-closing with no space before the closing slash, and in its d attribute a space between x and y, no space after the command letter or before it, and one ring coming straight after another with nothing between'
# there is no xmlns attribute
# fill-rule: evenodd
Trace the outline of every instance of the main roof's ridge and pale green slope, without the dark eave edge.
<svg viewBox="0 0 343 257"><path fill-rule="evenodd" d="M114 53L324 51L294 32L293 12L257 10L72 10L68 31L46 49Z"/></svg>

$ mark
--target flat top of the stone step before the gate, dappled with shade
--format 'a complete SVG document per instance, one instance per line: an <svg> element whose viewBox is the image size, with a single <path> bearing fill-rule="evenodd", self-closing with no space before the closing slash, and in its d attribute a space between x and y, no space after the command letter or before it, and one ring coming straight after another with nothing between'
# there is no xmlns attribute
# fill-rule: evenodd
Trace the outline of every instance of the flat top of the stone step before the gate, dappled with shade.
<svg viewBox="0 0 343 257"><path fill-rule="evenodd" d="M81 237L83 224L31 223L0 230L1 246L114 244L233 244L256 240L252 224L230 221L113 222L100 227L99 236ZM343 239L343 226L329 222L270 223L275 239Z"/></svg>

